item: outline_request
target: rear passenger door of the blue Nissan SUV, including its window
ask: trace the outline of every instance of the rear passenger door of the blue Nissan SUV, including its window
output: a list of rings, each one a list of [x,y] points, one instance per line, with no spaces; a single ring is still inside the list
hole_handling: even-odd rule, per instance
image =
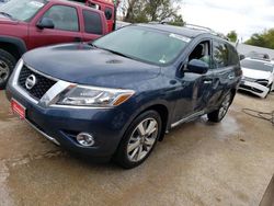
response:
[[[209,100],[212,107],[221,102],[236,83],[236,71],[239,66],[239,57],[235,48],[221,39],[213,41],[213,62],[216,78],[216,88]]]

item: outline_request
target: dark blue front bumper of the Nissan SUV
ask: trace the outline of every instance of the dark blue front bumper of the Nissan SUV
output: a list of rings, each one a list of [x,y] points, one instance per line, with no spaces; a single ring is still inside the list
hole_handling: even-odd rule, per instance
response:
[[[84,156],[111,157],[126,129],[129,115],[118,108],[50,107],[35,104],[20,93],[11,83],[7,98],[14,99],[26,108],[26,122],[47,139]],[[92,147],[82,147],[76,140],[79,133],[94,137]]]

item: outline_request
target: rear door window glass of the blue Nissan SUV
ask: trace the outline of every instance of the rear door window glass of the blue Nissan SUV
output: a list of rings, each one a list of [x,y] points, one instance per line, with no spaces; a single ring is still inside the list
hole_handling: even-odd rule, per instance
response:
[[[222,68],[229,66],[229,50],[225,43],[214,42],[213,44],[213,60],[215,68]]]

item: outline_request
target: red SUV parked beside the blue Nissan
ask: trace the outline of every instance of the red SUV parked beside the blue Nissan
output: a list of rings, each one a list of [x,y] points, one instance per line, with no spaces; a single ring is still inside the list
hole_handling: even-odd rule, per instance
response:
[[[0,8],[0,89],[26,50],[107,33],[102,11],[62,0],[11,0]]]

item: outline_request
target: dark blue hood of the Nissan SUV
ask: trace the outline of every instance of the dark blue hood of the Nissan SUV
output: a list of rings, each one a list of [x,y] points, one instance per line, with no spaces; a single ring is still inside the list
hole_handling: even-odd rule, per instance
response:
[[[66,44],[31,50],[23,56],[31,68],[50,77],[87,85],[125,88],[156,78],[160,67],[93,48]]]

